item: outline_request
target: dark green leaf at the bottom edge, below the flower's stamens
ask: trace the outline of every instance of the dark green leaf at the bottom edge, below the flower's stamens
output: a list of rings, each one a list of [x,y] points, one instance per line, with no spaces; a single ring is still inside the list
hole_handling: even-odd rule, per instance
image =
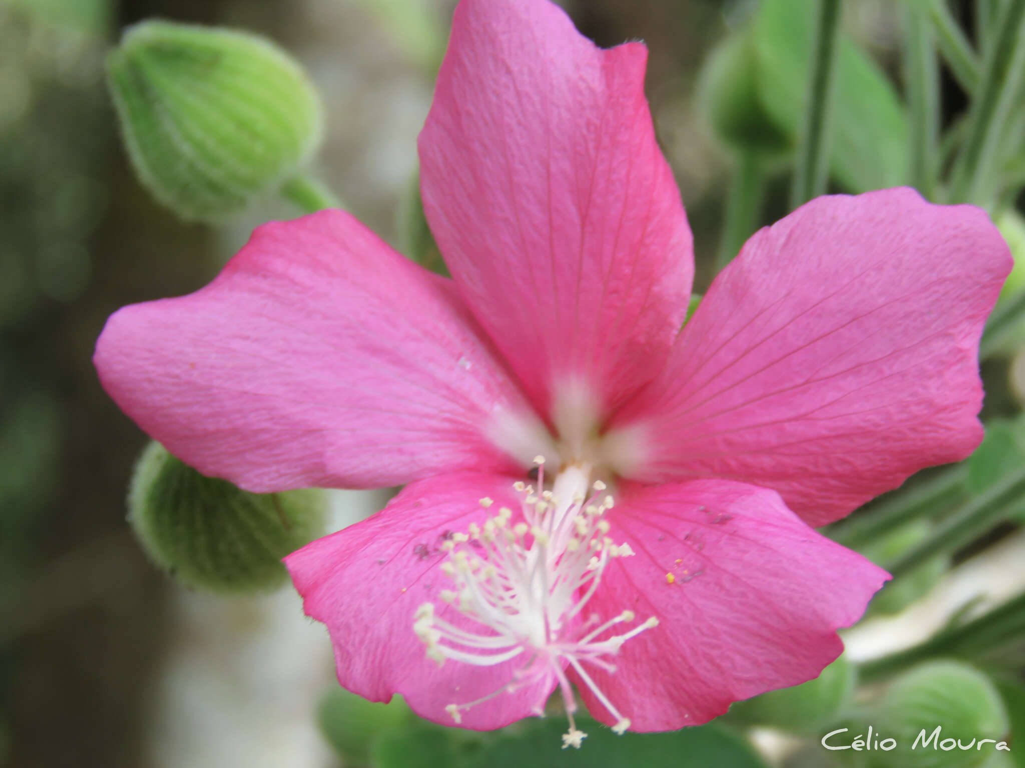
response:
[[[579,750],[560,749],[567,724],[562,718],[552,718],[522,734],[496,739],[460,768],[765,768],[743,737],[717,723],[622,736],[590,719],[580,718],[577,725],[587,733]]]

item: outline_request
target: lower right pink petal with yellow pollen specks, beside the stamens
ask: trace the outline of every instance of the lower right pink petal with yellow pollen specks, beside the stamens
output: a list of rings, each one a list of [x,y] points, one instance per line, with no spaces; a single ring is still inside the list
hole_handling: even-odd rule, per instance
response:
[[[659,625],[623,644],[616,672],[587,672],[633,730],[699,725],[733,701],[816,677],[844,649],[836,629],[889,579],[775,492],[739,482],[630,484],[609,521],[636,554],[612,561],[591,605]],[[614,724],[577,687],[591,715]]]

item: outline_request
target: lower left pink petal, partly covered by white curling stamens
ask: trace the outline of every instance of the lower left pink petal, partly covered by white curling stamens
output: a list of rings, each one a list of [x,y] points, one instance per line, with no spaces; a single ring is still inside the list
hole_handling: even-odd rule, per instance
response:
[[[470,522],[484,522],[488,514],[479,499],[519,508],[511,484],[511,478],[485,474],[421,480],[373,517],[285,558],[306,614],[331,633],[344,688],[371,701],[401,693],[421,717],[453,725],[447,706],[492,693],[523,667],[526,654],[494,667],[451,660],[439,667],[413,633],[413,615],[424,602],[433,602],[442,618],[482,633],[439,599],[440,591],[453,586],[439,567],[446,559],[440,545]],[[461,725],[486,730],[536,714],[555,685],[548,676],[503,692],[463,712]]]

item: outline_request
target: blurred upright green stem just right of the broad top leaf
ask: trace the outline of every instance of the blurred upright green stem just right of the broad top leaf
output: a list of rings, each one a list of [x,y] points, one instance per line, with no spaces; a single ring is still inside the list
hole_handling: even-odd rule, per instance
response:
[[[940,125],[940,75],[932,25],[913,5],[905,6],[904,73],[910,111],[910,178],[921,195],[933,188]]]

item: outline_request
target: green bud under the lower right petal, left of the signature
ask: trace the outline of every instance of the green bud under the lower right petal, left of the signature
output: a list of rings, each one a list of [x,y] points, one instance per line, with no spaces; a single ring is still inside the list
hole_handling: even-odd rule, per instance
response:
[[[843,654],[814,680],[738,701],[730,715],[749,725],[815,733],[847,707],[856,681],[857,670]]]

